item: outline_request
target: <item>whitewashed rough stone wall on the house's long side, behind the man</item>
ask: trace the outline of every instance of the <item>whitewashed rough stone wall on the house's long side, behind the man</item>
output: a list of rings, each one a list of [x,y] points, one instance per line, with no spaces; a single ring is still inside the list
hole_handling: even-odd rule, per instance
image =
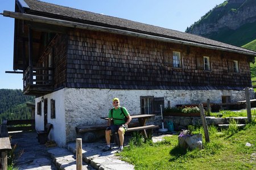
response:
[[[221,95],[229,94],[233,101],[244,100],[243,91],[189,91],[189,90],[111,90],[111,89],[84,89],[65,88],[65,121],[67,142],[76,138],[75,127],[84,125],[106,124],[100,117],[108,116],[112,108],[113,97],[119,97],[120,104],[126,107],[130,114],[141,114],[140,96],[164,97],[164,107],[176,104],[191,104],[206,102],[209,98],[213,103],[221,103]],[[57,114],[57,111],[56,111]],[[57,115],[56,115],[57,117]],[[191,118],[188,118],[191,119]],[[161,125],[161,117],[156,116],[148,121]],[[181,125],[187,124],[187,118],[181,121]]]

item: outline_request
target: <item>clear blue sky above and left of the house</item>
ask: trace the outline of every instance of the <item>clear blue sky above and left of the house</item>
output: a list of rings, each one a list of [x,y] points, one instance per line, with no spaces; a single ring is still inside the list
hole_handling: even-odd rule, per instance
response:
[[[225,0],[42,0],[98,14],[125,18],[141,23],[184,32],[216,5]],[[15,0],[1,0],[3,10],[14,11]],[[22,74],[13,71],[14,19],[0,15],[0,89],[23,89]]]

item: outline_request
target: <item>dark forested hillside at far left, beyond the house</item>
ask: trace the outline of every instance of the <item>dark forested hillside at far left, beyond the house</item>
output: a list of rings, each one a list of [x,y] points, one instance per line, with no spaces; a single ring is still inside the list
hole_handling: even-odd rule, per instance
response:
[[[23,95],[21,90],[0,89],[0,123],[2,120],[30,119],[31,112],[27,102],[34,102],[34,97]]]

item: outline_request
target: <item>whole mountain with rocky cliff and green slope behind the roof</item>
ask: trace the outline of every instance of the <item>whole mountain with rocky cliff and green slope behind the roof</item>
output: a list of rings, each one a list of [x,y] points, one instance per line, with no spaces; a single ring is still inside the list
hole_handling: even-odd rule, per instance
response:
[[[250,43],[256,40],[256,1],[225,1],[185,32],[237,46]]]

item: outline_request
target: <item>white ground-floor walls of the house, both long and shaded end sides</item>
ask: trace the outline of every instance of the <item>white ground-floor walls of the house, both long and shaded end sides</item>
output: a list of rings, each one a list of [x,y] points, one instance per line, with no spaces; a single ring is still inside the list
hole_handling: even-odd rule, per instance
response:
[[[164,107],[168,101],[171,107],[177,104],[221,103],[221,96],[231,96],[232,101],[245,100],[244,91],[229,90],[110,90],[96,88],[64,88],[44,96],[48,99],[48,122],[53,124],[51,140],[59,146],[75,141],[76,126],[106,124],[100,117],[108,116],[112,108],[112,99],[118,97],[120,104],[130,114],[141,113],[141,96],[164,97]],[[41,97],[36,99],[40,101]],[[51,119],[51,99],[55,100],[56,118]],[[37,113],[37,112],[35,112]],[[36,114],[36,130],[43,129],[42,116]]]

